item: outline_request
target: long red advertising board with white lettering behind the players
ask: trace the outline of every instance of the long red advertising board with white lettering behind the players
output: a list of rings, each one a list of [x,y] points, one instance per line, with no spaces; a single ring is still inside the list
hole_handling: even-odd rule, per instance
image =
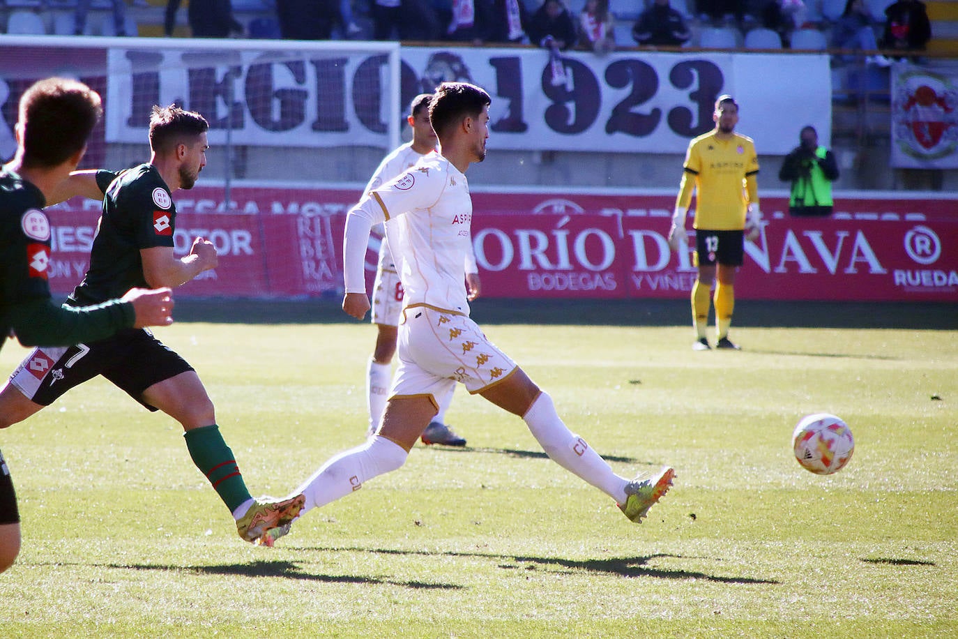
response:
[[[338,296],[342,230],[354,190],[234,187],[176,194],[174,243],[217,246],[219,265],[177,290],[197,297]],[[690,252],[665,241],[674,195],[473,194],[472,238],[488,297],[685,298]],[[763,200],[745,246],[740,299],[958,302],[958,200],[838,197],[827,219],[791,218]],[[68,292],[88,264],[99,204],[50,209],[50,282]],[[691,224],[690,224],[691,227]],[[371,250],[367,267],[375,269]]]

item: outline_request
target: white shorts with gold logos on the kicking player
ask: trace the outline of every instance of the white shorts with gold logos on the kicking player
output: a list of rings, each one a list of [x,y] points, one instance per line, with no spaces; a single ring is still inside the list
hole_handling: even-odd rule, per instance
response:
[[[406,308],[403,314],[391,398],[441,397],[457,381],[469,393],[480,393],[516,368],[466,315],[429,307]]]

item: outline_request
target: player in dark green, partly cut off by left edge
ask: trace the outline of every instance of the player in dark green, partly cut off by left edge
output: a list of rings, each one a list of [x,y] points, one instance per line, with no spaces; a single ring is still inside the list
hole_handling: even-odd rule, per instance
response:
[[[16,154],[0,170],[0,347],[11,332],[24,346],[69,345],[172,323],[169,288],[133,288],[92,307],[60,307],[51,299],[51,227],[42,209],[77,168],[101,104],[96,91],[62,78],[35,82],[20,99]],[[20,513],[0,453],[0,573],[19,551]]]

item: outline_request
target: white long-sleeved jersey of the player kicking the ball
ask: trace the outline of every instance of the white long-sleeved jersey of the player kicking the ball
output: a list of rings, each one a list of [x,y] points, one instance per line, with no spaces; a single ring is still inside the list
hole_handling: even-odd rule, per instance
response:
[[[347,292],[366,291],[365,238],[372,224],[383,221],[405,291],[403,305],[468,315],[466,263],[472,252],[472,199],[466,175],[432,152],[398,178],[364,195],[346,219]]]

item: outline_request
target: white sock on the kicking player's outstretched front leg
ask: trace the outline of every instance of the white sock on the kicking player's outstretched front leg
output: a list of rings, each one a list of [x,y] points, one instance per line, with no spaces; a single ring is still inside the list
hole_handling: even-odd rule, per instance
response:
[[[628,480],[612,472],[612,468],[599,453],[562,423],[552,398],[546,393],[536,398],[522,419],[529,425],[533,437],[552,461],[603,491],[616,502],[625,503]]]

